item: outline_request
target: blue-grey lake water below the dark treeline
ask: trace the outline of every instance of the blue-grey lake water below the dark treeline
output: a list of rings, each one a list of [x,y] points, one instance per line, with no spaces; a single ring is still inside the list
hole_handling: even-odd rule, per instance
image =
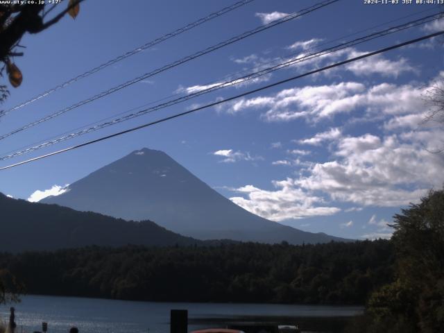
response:
[[[214,321],[239,318],[344,317],[361,314],[362,307],[323,305],[221,304],[183,302],[133,302],[99,298],[23,296],[14,305],[16,333],[42,330],[48,323],[49,333],[67,333],[75,325],[80,333],[158,333],[169,332],[171,309],[187,309],[189,332],[216,326]],[[8,321],[9,306],[1,305],[0,317]],[[213,323],[213,325],[212,325]]]

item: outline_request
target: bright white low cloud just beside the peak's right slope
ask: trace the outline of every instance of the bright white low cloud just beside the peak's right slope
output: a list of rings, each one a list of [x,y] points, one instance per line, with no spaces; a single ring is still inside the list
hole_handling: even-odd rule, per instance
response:
[[[272,221],[302,219],[308,216],[327,216],[341,210],[323,204],[323,199],[313,196],[294,186],[293,180],[273,181],[274,191],[259,189],[253,185],[240,187],[237,191],[244,196],[230,198],[232,202],[253,214]]]

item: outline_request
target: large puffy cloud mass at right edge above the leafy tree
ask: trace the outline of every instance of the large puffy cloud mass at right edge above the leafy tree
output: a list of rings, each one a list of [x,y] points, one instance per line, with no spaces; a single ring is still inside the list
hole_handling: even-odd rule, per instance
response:
[[[397,135],[345,137],[334,155],[336,160],[314,164],[309,176],[296,183],[334,200],[397,207],[416,202],[427,189],[444,182],[444,155],[431,154],[418,141],[405,142]]]

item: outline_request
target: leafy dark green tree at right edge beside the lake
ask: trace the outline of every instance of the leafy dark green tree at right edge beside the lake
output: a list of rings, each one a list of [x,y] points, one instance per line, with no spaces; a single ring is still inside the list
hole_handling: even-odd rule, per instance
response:
[[[394,216],[395,282],[370,297],[368,314],[390,332],[444,330],[444,190]]]

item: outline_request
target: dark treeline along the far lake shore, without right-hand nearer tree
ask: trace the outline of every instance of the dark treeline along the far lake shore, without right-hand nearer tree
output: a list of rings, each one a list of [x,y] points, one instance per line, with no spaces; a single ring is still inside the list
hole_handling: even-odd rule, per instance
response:
[[[364,304],[393,279],[389,241],[0,254],[28,293],[123,300]]]

